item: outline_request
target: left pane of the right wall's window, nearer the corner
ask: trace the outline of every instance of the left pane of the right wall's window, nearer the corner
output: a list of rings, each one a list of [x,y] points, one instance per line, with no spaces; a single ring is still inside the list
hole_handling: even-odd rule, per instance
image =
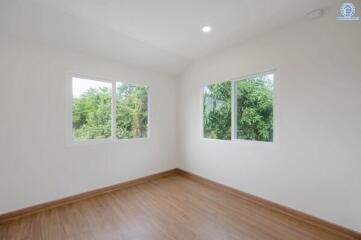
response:
[[[231,82],[208,85],[203,92],[203,136],[231,139]]]

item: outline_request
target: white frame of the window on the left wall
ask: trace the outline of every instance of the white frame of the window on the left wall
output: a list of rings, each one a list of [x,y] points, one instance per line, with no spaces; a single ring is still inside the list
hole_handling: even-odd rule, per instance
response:
[[[103,139],[75,139],[73,135],[73,78],[81,78],[84,80],[93,80],[105,83],[112,84],[112,111],[111,111],[111,136],[109,138]],[[130,81],[120,81],[114,80],[105,77],[96,77],[90,76],[86,74],[78,74],[78,73],[67,73],[66,74],[66,105],[67,105],[67,114],[66,114],[66,129],[67,129],[67,136],[66,142],[67,145],[79,145],[79,144],[103,144],[103,143],[116,143],[116,142],[123,142],[123,141],[144,141],[150,139],[150,87],[145,84],[134,83]],[[116,136],[116,84],[123,83],[123,84],[131,84],[133,86],[145,87],[147,89],[147,115],[148,115],[148,123],[147,123],[147,136],[140,138],[123,138],[119,139]]]

